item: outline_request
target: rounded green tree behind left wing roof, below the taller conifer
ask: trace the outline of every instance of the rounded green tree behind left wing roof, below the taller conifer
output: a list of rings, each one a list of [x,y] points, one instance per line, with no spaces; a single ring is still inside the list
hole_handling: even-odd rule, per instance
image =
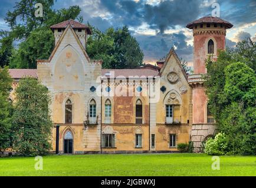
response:
[[[50,29],[36,29],[10,59],[11,68],[35,69],[37,59],[48,59],[54,48],[54,35]]]

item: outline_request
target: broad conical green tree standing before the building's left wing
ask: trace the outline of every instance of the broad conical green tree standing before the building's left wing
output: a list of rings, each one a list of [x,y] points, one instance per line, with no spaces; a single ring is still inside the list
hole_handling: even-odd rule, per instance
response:
[[[51,149],[50,93],[34,78],[19,82],[13,117],[14,149],[24,156],[46,155]]]

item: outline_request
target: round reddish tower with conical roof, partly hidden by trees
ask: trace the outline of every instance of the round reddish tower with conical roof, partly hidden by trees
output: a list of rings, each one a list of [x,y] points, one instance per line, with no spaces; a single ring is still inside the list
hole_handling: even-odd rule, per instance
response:
[[[195,152],[201,151],[201,143],[215,134],[214,119],[209,112],[208,98],[205,95],[202,75],[207,73],[205,60],[209,56],[216,60],[219,49],[225,49],[226,29],[232,24],[221,18],[206,16],[189,23],[186,27],[193,29],[193,75],[188,76],[192,87],[193,125],[191,140],[194,142]]]

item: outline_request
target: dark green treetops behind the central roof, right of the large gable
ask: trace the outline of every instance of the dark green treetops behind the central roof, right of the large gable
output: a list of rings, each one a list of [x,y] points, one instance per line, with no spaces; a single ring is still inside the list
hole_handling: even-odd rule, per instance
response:
[[[104,69],[137,68],[142,65],[143,52],[126,26],[109,28],[106,32],[93,28],[88,38],[87,53],[92,59],[103,59]]]

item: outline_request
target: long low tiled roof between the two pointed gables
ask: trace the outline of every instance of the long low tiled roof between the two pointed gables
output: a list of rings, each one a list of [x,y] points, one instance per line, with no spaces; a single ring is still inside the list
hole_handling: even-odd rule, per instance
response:
[[[149,70],[149,69],[103,69],[101,72],[101,76],[106,78],[117,78],[125,77],[129,78],[129,76],[138,76],[140,78],[149,77],[149,76],[157,76],[158,71],[156,70]]]

